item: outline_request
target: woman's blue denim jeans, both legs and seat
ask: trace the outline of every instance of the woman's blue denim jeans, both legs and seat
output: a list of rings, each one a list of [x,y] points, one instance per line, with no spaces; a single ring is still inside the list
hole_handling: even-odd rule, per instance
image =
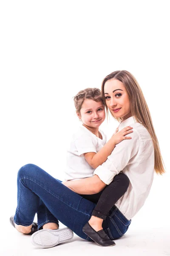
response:
[[[91,218],[95,206],[34,164],[27,164],[18,171],[14,216],[18,225],[31,225],[37,212],[39,229],[48,222],[58,224],[59,220],[82,239],[92,241],[82,232],[82,227]],[[102,227],[113,240],[125,234],[130,222],[113,206]]]

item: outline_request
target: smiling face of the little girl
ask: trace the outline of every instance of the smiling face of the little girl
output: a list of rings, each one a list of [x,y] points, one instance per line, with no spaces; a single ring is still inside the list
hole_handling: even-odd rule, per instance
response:
[[[95,102],[92,99],[85,99],[80,113],[77,113],[83,124],[98,128],[105,120],[105,108],[102,102]]]

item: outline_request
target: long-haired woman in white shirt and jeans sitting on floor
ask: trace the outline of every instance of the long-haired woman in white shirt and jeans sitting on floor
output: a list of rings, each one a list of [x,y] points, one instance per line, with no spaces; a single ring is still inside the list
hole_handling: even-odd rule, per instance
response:
[[[133,126],[132,140],[123,140],[116,145],[106,162],[97,167],[94,177],[67,181],[65,186],[38,166],[29,164],[19,170],[18,205],[14,226],[22,233],[30,233],[37,212],[39,227],[55,229],[34,233],[32,236],[35,244],[50,247],[50,244],[54,246],[64,241],[60,231],[57,233],[56,230],[58,220],[81,238],[92,241],[86,234],[94,232],[93,235],[96,235],[95,230],[91,228],[93,220],[88,223],[95,204],[77,193],[98,193],[122,171],[129,178],[130,185],[102,223],[109,238],[118,239],[125,234],[131,218],[143,206],[150,192],[154,170],[161,175],[164,173],[150,112],[136,79],[125,70],[115,71],[103,80],[102,96],[107,110],[121,122],[119,130],[127,125]],[[69,233],[69,229],[61,230],[61,233]],[[58,240],[54,242],[52,240],[56,234]],[[45,237],[48,243],[42,242],[40,236]],[[71,235],[68,237],[70,239]]]

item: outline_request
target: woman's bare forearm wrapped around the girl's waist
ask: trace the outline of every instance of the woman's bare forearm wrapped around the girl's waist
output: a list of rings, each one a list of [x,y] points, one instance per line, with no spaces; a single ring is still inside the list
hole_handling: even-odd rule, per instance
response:
[[[99,193],[106,186],[106,184],[102,180],[100,180],[97,175],[81,180],[64,181],[62,182],[62,184],[64,184],[77,194],[81,195],[92,195]]]

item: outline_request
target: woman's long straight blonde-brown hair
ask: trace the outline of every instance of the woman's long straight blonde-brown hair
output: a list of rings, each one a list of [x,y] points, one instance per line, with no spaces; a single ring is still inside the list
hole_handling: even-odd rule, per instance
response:
[[[153,128],[150,111],[149,111],[147,103],[144,99],[144,95],[142,93],[141,87],[139,86],[135,77],[130,72],[128,72],[126,70],[114,71],[113,73],[106,76],[102,82],[102,97],[105,102],[107,113],[108,113],[108,107],[107,107],[106,101],[105,101],[104,86],[105,86],[105,82],[110,79],[117,79],[124,84],[124,86],[127,90],[129,99],[130,99],[130,108],[131,108],[132,116],[135,116],[136,121],[141,123],[142,125],[144,125],[144,127],[147,129],[147,131],[150,133],[150,136],[152,137],[154,152],[155,152],[154,168],[155,168],[155,171],[157,174],[162,175],[165,172],[164,162],[161,157],[158,139],[156,137],[156,133]],[[111,115],[113,116],[112,113],[111,113]],[[121,118],[115,118],[115,119],[118,120],[119,122],[122,121]]]

